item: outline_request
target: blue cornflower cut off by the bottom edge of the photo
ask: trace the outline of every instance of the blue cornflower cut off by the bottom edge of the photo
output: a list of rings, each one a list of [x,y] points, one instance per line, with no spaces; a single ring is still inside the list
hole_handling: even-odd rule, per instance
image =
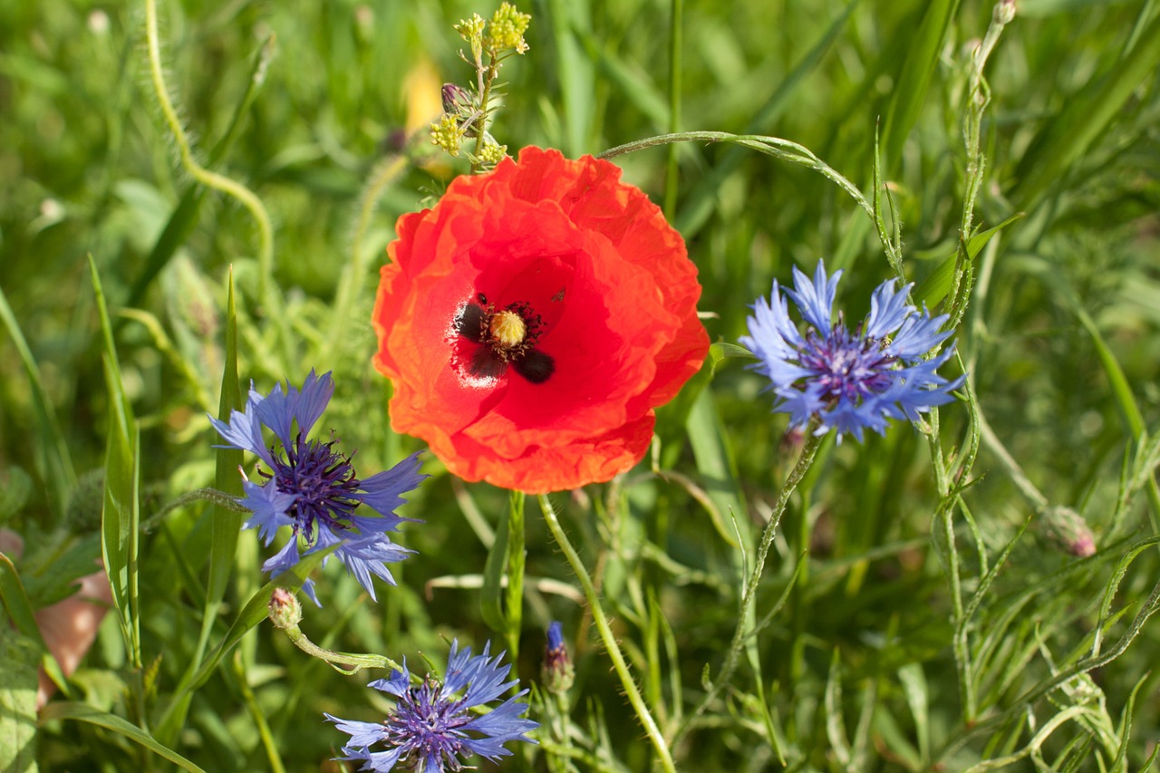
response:
[[[406,660],[403,670],[392,673],[390,679],[370,682],[375,689],[397,699],[394,710],[383,722],[355,722],[324,714],[350,736],[342,746],[347,756],[341,759],[362,760],[365,765],[360,771],[387,773],[398,765],[423,773],[443,773],[462,771],[472,754],[494,763],[512,753],[503,747],[508,741],[536,743],[525,734],[539,723],[521,718],[528,705],[516,702],[527,689],[486,714],[471,710],[519,684],[519,680],[503,681],[512,666],[499,665],[502,652],[488,659],[490,648],[488,642],[483,655],[471,657],[470,646],[459,651],[459,643],[452,642],[442,684],[432,677],[418,685],[411,684]],[[386,750],[371,751],[376,744],[384,744]]]

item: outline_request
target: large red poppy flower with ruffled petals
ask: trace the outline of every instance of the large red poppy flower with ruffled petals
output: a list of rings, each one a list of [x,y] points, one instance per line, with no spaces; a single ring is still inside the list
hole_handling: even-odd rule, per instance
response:
[[[701,367],[697,269],[621,169],[525,147],[399,218],[375,304],[391,426],[467,481],[544,493],[645,455]]]

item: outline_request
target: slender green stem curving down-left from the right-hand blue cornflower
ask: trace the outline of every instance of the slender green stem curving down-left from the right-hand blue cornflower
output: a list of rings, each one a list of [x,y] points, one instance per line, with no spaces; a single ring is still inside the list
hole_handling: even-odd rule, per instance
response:
[[[693,727],[693,722],[705,713],[705,709],[717,700],[720,695],[722,689],[728,684],[730,678],[733,676],[733,671],[737,670],[737,665],[741,659],[741,652],[745,649],[746,640],[753,633],[751,630],[751,621],[754,616],[754,604],[757,599],[757,585],[761,583],[761,575],[766,570],[766,557],[769,556],[769,548],[774,544],[774,535],[777,533],[777,525],[782,520],[782,515],[785,513],[785,508],[789,506],[790,497],[797,489],[797,485],[802,483],[806,472],[810,471],[810,467],[813,464],[813,458],[818,453],[818,448],[821,446],[821,441],[825,439],[825,434],[817,434],[820,420],[814,417],[810,420],[810,424],[805,428],[805,443],[802,446],[802,454],[798,456],[797,464],[790,470],[789,477],[785,478],[785,484],[782,486],[781,492],[777,494],[777,501],[774,504],[774,510],[769,515],[769,521],[766,523],[764,530],[761,533],[761,543],[757,546],[757,555],[753,563],[753,571],[749,572],[749,578],[745,584],[745,591],[741,594],[741,609],[737,620],[737,628],[733,630],[733,641],[730,643],[728,652],[725,656],[725,664],[722,666],[720,673],[717,674],[717,679],[713,680],[712,687],[705,693],[701,703],[697,708],[686,717],[681,727],[677,728],[676,734],[673,736],[673,745],[675,746],[680,743],[681,738],[689,731]],[[803,513],[803,518],[805,514]],[[809,561],[810,556],[807,552],[803,552],[802,561]]]

